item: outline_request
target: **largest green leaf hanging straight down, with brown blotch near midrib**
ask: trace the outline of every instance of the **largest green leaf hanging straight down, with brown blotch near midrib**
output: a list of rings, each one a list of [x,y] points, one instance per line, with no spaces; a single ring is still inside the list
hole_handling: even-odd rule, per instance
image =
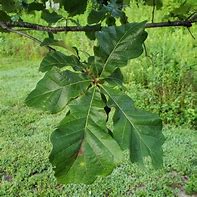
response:
[[[61,183],[92,183],[122,160],[122,151],[108,134],[104,103],[96,87],[69,104],[70,113],[53,132],[50,162]]]

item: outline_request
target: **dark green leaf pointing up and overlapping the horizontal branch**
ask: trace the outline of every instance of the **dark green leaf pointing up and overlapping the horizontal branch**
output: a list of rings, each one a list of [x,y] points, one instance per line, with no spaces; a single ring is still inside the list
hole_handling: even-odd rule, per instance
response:
[[[96,33],[99,49],[95,48],[96,66],[101,76],[106,77],[128,60],[139,57],[143,52],[147,33],[145,23],[130,23],[119,27],[106,27]]]

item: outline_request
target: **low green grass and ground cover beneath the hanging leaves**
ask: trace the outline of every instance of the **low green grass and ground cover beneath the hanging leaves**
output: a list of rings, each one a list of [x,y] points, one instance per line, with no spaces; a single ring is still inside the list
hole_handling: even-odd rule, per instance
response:
[[[50,115],[23,101],[41,74],[38,61],[0,59],[0,196],[170,197],[197,194],[197,133],[164,129],[164,168],[128,161],[92,185],[59,185],[48,162],[49,136],[63,113]],[[126,153],[125,153],[126,154]],[[193,196],[194,196],[193,195]]]

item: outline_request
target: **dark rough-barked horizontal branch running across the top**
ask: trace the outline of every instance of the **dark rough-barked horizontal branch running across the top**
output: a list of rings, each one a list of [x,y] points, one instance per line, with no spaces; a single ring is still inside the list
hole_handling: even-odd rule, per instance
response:
[[[168,21],[168,22],[158,22],[158,23],[146,23],[145,28],[161,28],[161,27],[191,27],[193,23],[196,23],[195,20],[185,20],[185,21]],[[11,21],[0,21],[0,26],[6,30],[7,28],[26,28],[27,30],[36,30],[44,32],[94,32],[101,30],[102,27],[99,25],[91,26],[58,26],[50,27],[39,24],[27,23],[27,22],[11,22]]]

